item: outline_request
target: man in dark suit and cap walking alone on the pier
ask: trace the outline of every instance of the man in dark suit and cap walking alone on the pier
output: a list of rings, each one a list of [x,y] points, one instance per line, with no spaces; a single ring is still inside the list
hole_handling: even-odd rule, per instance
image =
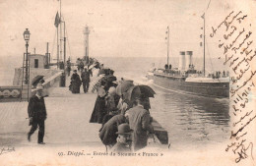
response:
[[[29,141],[31,141],[32,134],[37,129],[37,126],[39,126],[38,139],[37,139],[37,143],[39,144],[44,144],[43,142],[44,121],[46,120],[46,117],[47,117],[45,103],[42,96],[42,90],[43,88],[41,86],[36,88],[36,94],[32,96],[28,106],[30,126],[32,126],[32,129],[28,134],[28,139]]]

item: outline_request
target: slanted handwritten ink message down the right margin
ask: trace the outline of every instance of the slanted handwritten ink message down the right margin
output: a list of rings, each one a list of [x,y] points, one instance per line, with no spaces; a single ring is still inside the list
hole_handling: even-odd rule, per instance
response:
[[[256,47],[253,47],[254,32],[249,21],[244,12],[232,11],[217,27],[212,27],[210,33],[210,37],[218,40],[218,47],[223,52],[219,59],[224,59],[224,65],[229,67],[231,74],[229,114],[233,115],[234,122],[231,124],[230,143],[225,151],[235,155],[236,163],[249,157],[253,159],[253,140],[248,135],[256,119],[256,111],[250,106],[252,90],[256,85],[253,82],[256,71],[252,68],[256,60]]]

